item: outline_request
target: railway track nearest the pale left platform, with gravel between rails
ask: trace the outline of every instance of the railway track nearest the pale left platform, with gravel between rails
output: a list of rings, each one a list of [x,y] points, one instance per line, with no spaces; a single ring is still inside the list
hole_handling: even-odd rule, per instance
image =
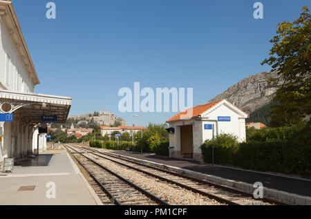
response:
[[[66,146],[68,149],[68,146]],[[74,155],[75,160],[102,189],[112,204],[117,205],[169,205],[164,200],[154,196],[138,185],[126,180],[121,175],[107,169],[99,162],[88,158],[82,153],[76,153],[75,149],[68,149]],[[93,184],[93,186],[95,186]],[[98,189],[97,189],[98,194]],[[100,198],[102,200],[102,198]],[[104,204],[107,204],[103,202]]]

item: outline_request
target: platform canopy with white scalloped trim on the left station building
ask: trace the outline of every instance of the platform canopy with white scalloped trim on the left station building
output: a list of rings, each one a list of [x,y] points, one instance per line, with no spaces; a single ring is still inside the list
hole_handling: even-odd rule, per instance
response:
[[[50,122],[65,123],[71,104],[71,97],[0,91],[0,112],[14,113],[14,118],[28,124],[48,122],[42,121],[44,115],[57,118]]]

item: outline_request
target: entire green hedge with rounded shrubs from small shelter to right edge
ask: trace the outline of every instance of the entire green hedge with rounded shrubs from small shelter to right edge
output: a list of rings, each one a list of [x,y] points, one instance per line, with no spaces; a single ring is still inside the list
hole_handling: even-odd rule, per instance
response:
[[[247,142],[238,143],[232,135],[218,135],[214,140],[214,162],[255,171],[311,175],[311,146],[297,127],[252,131]],[[211,163],[213,142],[201,146],[204,161]]]

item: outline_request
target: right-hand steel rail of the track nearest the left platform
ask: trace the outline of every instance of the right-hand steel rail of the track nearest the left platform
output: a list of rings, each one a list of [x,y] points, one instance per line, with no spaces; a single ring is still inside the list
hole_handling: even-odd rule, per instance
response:
[[[71,148],[71,146],[69,146]],[[73,149],[73,148],[71,148]],[[74,151],[77,151],[75,149],[73,149]],[[78,152],[78,151],[77,151]],[[165,202],[164,200],[158,198],[157,196],[153,195],[152,193],[149,193],[149,191],[146,191],[145,189],[142,189],[141,187],[139,187],[138,185],[134,184],[133,182],[126,180],[125,178],[123,178],[121,175],[111,171],[110,169],[106,168],[106,166],[103,166],[102,164],[96,162],[95,160],[92,160],[91,158],[86,157],[86,155],[84,155],[83,153],[81,153],[82,156],[84,156],[84,158],[87,158],[88,160],[91,160],[93,163],[97,164],[97,166],[100,166],[102,169],[104,169],[105,171],[111,173],[112,175],[115,175],[117,178],[119,178],[120,180],[122,180],[123,182],[126,182],[126,184],[129,184],[131,187],[134,187],[135,189],[137,189],[138,191],[142,192],[145,196],[149,197],[151,200],[157,202],[158,204],[162,204],[162,205],[170,205],[169,203]]]

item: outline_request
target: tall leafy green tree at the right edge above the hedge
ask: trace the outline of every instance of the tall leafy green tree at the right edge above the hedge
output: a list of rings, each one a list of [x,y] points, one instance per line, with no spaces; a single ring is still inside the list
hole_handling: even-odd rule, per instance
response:
[[[270,41],[270,57],[261,63],[278,72],[279,78],[270,78],[268,82],[283,81],[272,100],[271,126],[300,124],[311,114],[311,22],[308,7],[302,11],[292,23],[278,24],[277,35]]]

